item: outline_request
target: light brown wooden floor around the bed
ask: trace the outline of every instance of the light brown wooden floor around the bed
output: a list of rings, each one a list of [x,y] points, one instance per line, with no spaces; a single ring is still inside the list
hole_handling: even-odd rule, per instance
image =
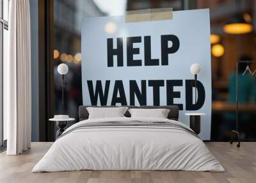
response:
[[[0,182],[256,182],[256,142],[206,143],[225,172],[195,171],[65,171],[31,173],[52,143],[32,143],[31,150],[17,156],[0,154]]]

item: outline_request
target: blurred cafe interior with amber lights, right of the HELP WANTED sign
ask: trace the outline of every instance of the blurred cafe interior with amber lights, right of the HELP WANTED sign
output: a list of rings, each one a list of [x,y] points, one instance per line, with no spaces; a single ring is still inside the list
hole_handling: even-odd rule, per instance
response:
[[[229,140],[236,129],[236,61],[256,60],[256,1],[197,1],[197,8],[209,8],[212,51],[211,139]],[[254,29],[253,29],[254,28]],[[242,138],[256,138],[255,76],[238,67],[239,131]],[[250,69],[255,70],[256,64]]]

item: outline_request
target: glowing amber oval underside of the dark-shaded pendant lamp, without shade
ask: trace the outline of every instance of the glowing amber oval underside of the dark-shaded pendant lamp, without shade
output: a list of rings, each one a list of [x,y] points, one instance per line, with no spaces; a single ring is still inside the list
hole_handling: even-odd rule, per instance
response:
[[[234,24],[227,24],[224,26],[225,33],[240,35],[245,33],[252,32],[253,27],[251,24],[246,23],[234,23]]]

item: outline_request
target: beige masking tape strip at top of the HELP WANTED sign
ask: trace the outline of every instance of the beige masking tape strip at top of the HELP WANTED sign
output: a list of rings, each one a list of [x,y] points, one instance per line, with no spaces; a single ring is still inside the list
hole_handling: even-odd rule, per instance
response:
[[[126,23],[171,19],[173,19],[172,8],[127,11],[125,15]]]

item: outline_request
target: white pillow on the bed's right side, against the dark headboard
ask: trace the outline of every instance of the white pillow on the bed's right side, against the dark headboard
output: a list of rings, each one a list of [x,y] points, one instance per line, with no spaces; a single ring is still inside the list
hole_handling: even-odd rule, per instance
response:
[[[170,109],[128,109],[128,111],[131,113],[131,118],[167,118]]]

